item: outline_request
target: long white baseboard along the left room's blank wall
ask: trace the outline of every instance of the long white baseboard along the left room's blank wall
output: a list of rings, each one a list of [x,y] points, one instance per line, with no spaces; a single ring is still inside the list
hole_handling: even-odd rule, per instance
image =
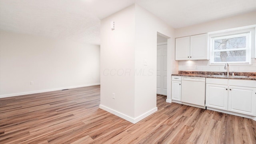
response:
[[[99,85],[100,83],[95,83],[95,84],[84,84],[84,85],[78,85],[78,86],[67,86],[67,87],[62,87],[62,88],[52,88],[52,89],[46,89],[46,90],[36,90],[36,91],[30,91],[30,92],[20,92],[20,93],[15,93],[15,94],[2,94],[0,95],[0,98],[7,98],[11,96],[22,96],[26,94],[37,94],[41,92],[52,92],[56,90],[64,90],[64,89],[70,89],[70,88],[80,88],[80,87],[85,87],[85,86],[95,86]]]

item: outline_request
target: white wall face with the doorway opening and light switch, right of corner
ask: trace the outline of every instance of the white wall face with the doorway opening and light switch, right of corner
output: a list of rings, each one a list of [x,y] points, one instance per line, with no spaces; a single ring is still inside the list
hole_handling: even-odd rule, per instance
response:
[[[135,118],[156,108],[156,62],[157,33],[168,39],[168,88],[171,87],[171,67],[174,57],[174,29],[165,22],[135,4],[135,70],[144,74],[135,74]],[[148,65],[144,66],[144,60]],[[170,94],[168,94],[170,95]]]

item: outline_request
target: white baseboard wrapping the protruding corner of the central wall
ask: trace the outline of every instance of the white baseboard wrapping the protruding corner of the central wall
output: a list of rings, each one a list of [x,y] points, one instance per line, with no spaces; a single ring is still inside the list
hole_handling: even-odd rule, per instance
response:
[[[123,118],[123,119],[127,120],[128,122],[132,122],[133,124],[139,122],[140,120],[146,118],[146,117],[149,116],[150,114],[153,114],[154,112],[157,111],[157,107],[156,107],[156,108],[153,108],[152,110],[149,110],[148,112],[146,112],[146,113],[144,113],[144,114],[138,116],[137,118],[132,118],[132,117],[130,117],[130,116],[127,116],[127,115],[125,115],[125,114],[122,114],[121,112],[118,112],[118,111],[116,111],[116,110],[113,110],[113,109],[111,109],[111,108],[108,108],[108,107],[106,107],[106,106],[103,106],[103,105],[101,105],[101,104],[100,104],[100,108],[101,108],[102,110],[106,110],[107,112],[110,112],[111,114],[114,114],[114,115],[116,115],[116,116],[119,116],[120,118]]]

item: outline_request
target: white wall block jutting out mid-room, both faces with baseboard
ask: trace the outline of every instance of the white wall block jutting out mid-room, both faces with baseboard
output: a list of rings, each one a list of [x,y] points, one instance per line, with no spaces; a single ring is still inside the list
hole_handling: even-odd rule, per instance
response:
[[[115,30],[110,30],[111,21],[115,22]],[[174,29],[137,4],[101,21],[100,108],[133,123],[157,110],[157,32],[169,37],[170,91]],[[145,59],[147,66],[144,66]]]

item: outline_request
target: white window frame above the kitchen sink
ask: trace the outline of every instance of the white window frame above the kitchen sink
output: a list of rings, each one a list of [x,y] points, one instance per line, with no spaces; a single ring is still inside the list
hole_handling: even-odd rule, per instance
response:
[[[214,62],[214,52],[217,51],[232,51],[232,50],[246,50],[246,62],[228,62],[233,65],[251,64],[251,50],[252,50],[252,29],[236,30],[229,32],[221,32],[209,34],[210,60],[209,65],[223,65],[226,62]],[[234,38],[238,36],[246,36],[246,48],[229,49],[229,50],[214,50],[214,40],[223,38]]]

